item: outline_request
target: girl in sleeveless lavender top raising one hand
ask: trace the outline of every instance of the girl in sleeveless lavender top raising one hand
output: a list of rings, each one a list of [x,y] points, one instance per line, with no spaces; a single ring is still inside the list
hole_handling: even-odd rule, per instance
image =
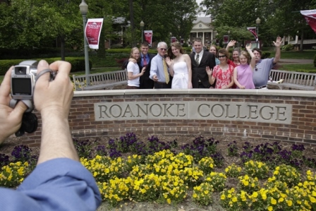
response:
[[[245,47],[247,52],[242,51],[239,56],[241,64],[233,69],[233,81],[237,89],[254,89],[253,69],[255,68],[255,55],[251,51],[251,43]],[[250,60],[250,56],[251,60]]]

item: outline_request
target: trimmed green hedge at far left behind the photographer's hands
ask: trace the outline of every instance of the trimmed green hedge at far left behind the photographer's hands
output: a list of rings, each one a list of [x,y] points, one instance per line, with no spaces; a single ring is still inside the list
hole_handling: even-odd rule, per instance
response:
[[[54,61],[60,60],[60,57],[56,58],[48,58],[44,59],[49,64],[53,63]],[[41,59],[29,59],[29,60],[36,60],[39,61]],[[21,61],[25,61],[25,59],[10,59],[10,60],[0,60],[0,76],[4,76],[8,68],[14,65],[20,64]],[[71,73],[83,71],[85,70],[85,58],[84,57],[66,57],[65,61],[71,63]],[[89,60],[89,67],[92,68],[92,62]]]

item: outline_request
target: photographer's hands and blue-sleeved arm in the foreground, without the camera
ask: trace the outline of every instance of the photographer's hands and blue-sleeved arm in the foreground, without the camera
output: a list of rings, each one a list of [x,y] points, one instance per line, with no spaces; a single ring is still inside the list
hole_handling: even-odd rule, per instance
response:
[[[35,108],[42,116],[42,141],[37,167],[16,190],[0,188],[1,210],[97,210],[101,203],[99,188],[92,174],[79,162],[69,130],[68,114],[73,97],[69,79],[71,64],[56,61],[51,65],[39,61],[34,90]],[[23,102],[12,109],[8,106],[11,70],[0,86],[0,143],[18,131],[24,111]]]

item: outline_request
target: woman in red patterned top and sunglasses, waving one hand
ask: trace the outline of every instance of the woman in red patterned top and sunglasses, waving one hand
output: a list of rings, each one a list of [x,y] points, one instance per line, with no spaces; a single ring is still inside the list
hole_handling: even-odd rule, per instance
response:
[[[219,49],[219,65],[214,66],[214,70],[206,68],[209,76],[209,83],[215,84],[215,89],[229,89],[233,86],[233,66],[227,64],[229,52],[226,49]]]

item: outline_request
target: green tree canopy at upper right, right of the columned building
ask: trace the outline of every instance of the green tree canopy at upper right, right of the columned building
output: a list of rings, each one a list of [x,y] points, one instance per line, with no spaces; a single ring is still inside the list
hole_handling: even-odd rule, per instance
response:
[[[259,39],[265,44],[272,44],[277,36],[308,34],[315,37],[300,10],[315,9],[316,0],[203,0],[201,6],[214,19],[219,35],[227,34],[227,28],[234,32],[236,28],[255,27],[255,20],[260,18]],[[243,40],[243,37],[233,38]]]

